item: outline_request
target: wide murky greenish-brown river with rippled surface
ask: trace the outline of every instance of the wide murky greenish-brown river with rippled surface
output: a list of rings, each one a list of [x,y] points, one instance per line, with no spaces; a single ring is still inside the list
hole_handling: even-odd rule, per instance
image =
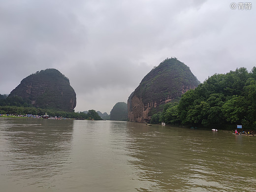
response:
[[[0,118],[1,192],[256,192],[256,136]]]

